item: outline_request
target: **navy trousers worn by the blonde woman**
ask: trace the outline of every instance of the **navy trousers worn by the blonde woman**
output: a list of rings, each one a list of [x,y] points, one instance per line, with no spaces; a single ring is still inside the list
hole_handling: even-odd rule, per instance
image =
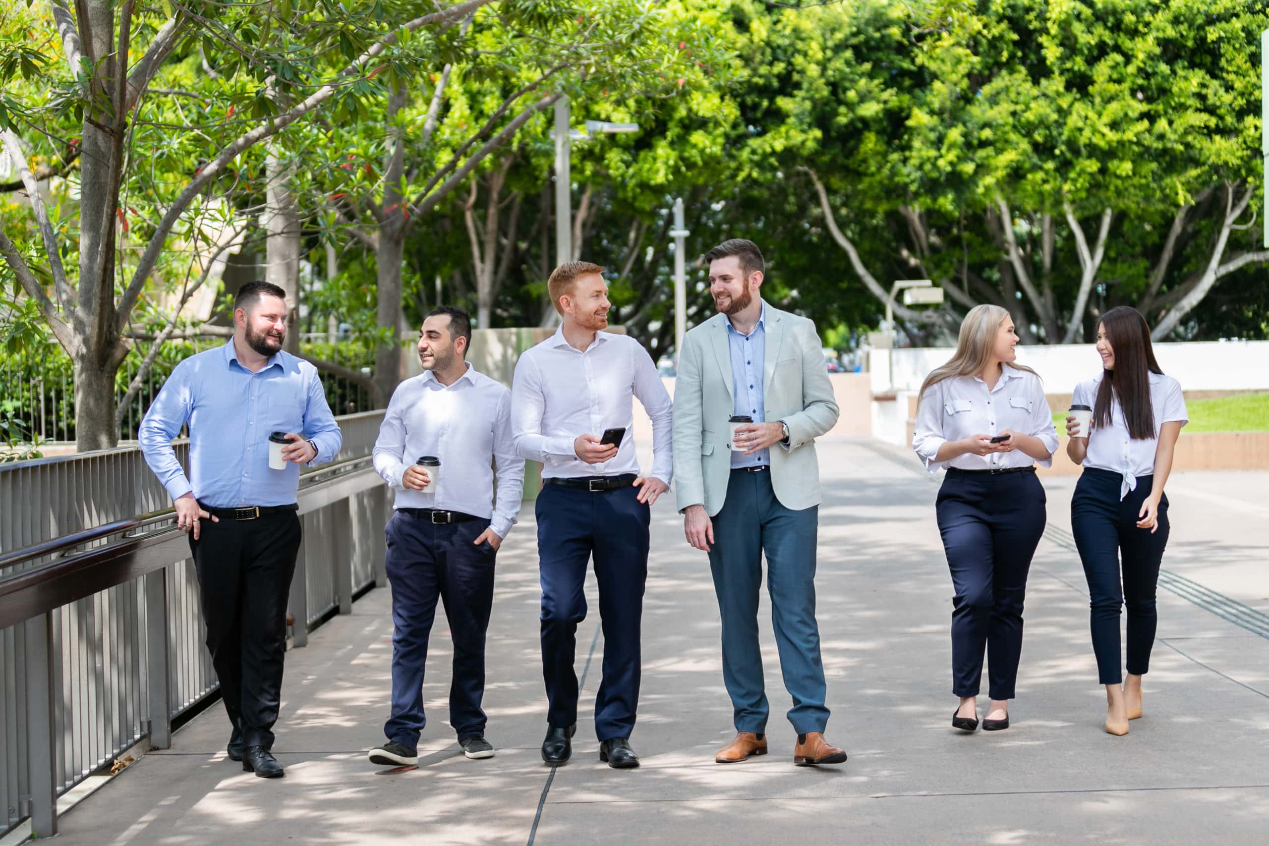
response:
[[[956,595],[952,693],[977,696],[987,652],[989,695],[1013,699],[1023,652],[1023,601],[1044,534],[1044,486],[1036,473],[948,469],[935,506]]]

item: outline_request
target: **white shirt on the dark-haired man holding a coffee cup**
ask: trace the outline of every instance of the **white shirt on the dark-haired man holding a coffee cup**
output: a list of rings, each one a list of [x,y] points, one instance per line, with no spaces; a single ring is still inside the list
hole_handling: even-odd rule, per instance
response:
[[[401,486],[406,467],[423,455],[440,459],[431,493]],[[395,507],[486,517],[505,538],[520,511],[524,487],[524,459],[511,443],[511,392],[471,364],[450,386],[440,384],[430,370],[406,379],[392,392],[383,413],[374,441],[374,469],[396,491]]]

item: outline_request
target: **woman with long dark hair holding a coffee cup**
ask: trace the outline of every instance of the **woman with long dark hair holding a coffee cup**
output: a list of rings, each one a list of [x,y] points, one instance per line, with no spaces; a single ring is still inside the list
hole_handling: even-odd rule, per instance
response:
[[[1164,375],[1150,345],[1150,326],[1121,306],[1098,326],[1101,373],[1081,382],[1072,406],[1093,410],[1089,431],[1066,419],[1066,454],[1084,473],[1071,498],[1071,529],[1089,581],[1093,651],[1107,686],[1105,729],[1128,733],[1142,713],[1141,677],[1155,644],[1155,587],[1167,544],[1164,485],[1173,452],[1189,420],[1181,386]],[[1123,582],[1121,585],[1121,567]],[[1119,609],[1128,606],[1128,675],[1119,663]]]

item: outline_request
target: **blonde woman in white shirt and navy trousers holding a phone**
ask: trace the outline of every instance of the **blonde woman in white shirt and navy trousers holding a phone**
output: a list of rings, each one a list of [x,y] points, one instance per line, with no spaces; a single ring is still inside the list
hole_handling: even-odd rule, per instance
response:
[[[931,473],[947,467],[935,511],[952,585],[952,726],[978,728],[977,696],[987,652],[991,703],[983,731],[1009,728],[1023,647],[1027,571],[1044,533],[1044,488],[1057,431],[1039,377],[1015,364],[1009,312],[976,306],[956,355],[921,386],[912,449]]]

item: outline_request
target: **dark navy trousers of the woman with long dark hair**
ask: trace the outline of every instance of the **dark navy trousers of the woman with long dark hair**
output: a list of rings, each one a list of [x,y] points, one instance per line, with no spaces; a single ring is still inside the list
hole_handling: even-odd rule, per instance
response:
[[[1155,646],[1155,589],[1167,545],[1167,495],[1159,500],[1159,529],[1138,529],[1137,515],[1150,496],[1154,476],[1138,476],[1137,487],[1119,498],[1119,473],[1086,467],[1071,497],[1071,531],[1089,580],[1089,628],[1098,656],[1098,684],[1123,681],[1119,665],[1119,611],[1128,606],[1128,672],[1150,671]],[[1123,585],[1119,572],[1123,571]]]

